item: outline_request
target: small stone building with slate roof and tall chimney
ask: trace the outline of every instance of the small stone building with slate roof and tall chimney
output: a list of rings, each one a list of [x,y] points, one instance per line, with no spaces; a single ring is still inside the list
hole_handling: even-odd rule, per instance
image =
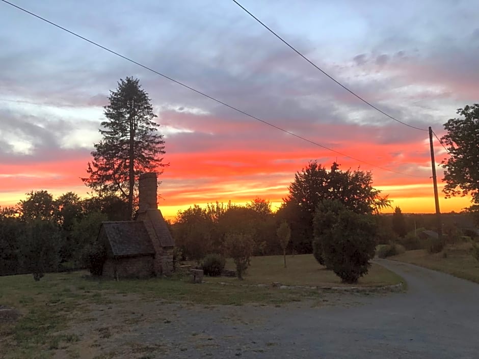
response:
[[[107,248],[103,276],[119,279],[171,274],[175,242],[158,209],[156,190],[156,173],[140,175],[135,220],[101,224],[98,239]]]

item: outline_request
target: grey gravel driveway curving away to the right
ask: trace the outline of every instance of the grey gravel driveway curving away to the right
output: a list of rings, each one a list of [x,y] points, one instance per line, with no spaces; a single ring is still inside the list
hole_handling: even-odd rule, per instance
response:
[[[145,303],[123,317],[127,330],[112,326],[120,312],[100,309],[98,324],[111,330],[101,351],[173,359],[479,358],[479,285],[411,264],[378,262],[406,279],[407,293],[328,294],[326,306],[315,308],[304,302],[281,308]]]

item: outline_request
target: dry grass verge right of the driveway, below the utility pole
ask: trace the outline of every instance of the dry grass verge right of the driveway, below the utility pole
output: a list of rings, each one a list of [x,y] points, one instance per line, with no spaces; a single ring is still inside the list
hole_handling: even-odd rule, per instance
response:
[[[407,251],[388,259],[439,270],[479,283],[479,262],[471,256],[470,248],[470,243],[461,243],[447,246],[441,253],[429,254],[425,250]]]

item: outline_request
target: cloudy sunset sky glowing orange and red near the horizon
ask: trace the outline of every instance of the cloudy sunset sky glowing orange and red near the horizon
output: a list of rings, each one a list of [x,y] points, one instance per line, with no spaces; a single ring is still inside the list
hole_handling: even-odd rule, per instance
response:
[[[403,212],[435,211],[428,132],[349,94],[232,1],[11,2],[367,163],[234,112],[0,2],[0,206],[40,189],[87,197],[80,178],[101,138],[103,106],[120,78],[135,76],[165,135],[169,166],[159,178],[158,205],[166,217],[193,204],[256,197],[276,209],[310,160],[371,171],[374,186]],[[343,85],[439,137],[458,108],[479,100],[475,0],[241,4]],[[437,140],[434,146],[441,191],[447,154]],[[469,201],[440,193],[443,212]]]

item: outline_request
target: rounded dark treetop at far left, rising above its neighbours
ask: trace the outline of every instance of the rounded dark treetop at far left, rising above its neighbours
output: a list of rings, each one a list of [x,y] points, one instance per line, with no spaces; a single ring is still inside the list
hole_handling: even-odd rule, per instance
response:
[[[23,220],[52,220],[55,215],[53,196],[46,190],[30,191],[26,200],[18,203],[18,211]]]

